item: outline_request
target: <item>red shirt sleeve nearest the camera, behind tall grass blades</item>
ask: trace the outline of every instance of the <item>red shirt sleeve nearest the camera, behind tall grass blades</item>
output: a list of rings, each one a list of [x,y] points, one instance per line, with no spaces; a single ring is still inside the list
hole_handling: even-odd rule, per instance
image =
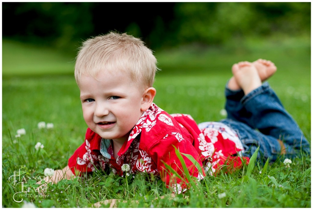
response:
[[[157,141],[151,148],[151,158],[156,162],[157,169],[160,173],[161,179],[166,183],[167,187],[172,187],[174,191],[180,193],[187,189],[187,177],[184,174],[182,163],[175,153],[175,147],[180,153],[191,155],[202,167],[202,162],[198,155],[198,152],[192,146],[189,140],[183,139],[181,133],[171,132],[164,136],[163,139]],[[199,173],[197,167],[186,156],[181,155],[183,158],[183,164],[188,169],[191,177],[197,177],[202,179],[203,176]],[[182,177],[178,178],[169,169],[170,166],[177,174]],[[204,175],[203,167],[202,174]]]

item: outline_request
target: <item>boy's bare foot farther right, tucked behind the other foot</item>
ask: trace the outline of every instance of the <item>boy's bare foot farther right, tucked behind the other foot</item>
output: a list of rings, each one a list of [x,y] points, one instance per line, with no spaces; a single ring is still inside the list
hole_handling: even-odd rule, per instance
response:
[[[274,63],[269,60],[258,59],[252,63],[258,70],[262,82],[271,77],[277,70]]]

